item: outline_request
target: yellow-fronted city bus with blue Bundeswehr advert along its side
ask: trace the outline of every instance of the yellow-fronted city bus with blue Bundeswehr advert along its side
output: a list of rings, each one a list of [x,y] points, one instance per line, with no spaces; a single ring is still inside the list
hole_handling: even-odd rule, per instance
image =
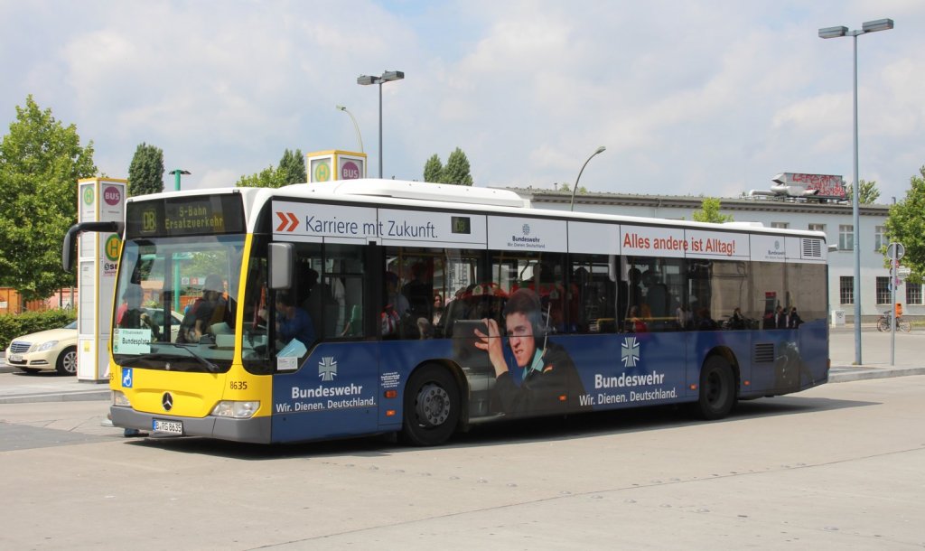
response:
[[[377,179],[129,198],[124,224],[76,225],[65,251],[81,231],[123,238],[119,427],[434,446],[480,423],[621,408],[720,419],[828,380],[820,232]],[[166,326],[127,313],[139,300]]]

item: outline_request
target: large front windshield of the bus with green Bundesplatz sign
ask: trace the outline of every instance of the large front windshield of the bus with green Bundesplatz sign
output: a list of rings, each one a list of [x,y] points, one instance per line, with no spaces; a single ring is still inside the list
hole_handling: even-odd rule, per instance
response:
[[[240,234],[126,241],[113,312],[117,363],[227,372],[243,249]]]

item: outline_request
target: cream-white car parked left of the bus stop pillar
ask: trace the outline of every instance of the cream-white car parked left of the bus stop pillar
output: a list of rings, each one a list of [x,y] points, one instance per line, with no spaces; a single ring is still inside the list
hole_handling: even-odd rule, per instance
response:
[[[77,322],[14,338],[6,349],[6,363],[27,373],[77,374]]]

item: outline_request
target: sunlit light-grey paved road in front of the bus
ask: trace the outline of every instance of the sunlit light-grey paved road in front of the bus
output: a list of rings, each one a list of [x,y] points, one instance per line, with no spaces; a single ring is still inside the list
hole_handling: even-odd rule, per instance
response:
[[[721,422],[633,410],[423,449],[122,439],[93,426],[102,402],[4,404],[0,426],[84,439],[0,451],[0,548],[921,548],[923,394],[865,380]]]

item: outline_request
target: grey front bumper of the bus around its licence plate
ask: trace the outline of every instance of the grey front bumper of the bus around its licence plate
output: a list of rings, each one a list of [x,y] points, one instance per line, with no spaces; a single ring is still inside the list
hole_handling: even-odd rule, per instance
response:
[[[229,419],[212,415],[203,418],[178,417],[144,413],[121,406],[110,406],[109,411],[112,414],[113,424],[118,427],[154,431],[154,420],[180,422],[183,436],[204,436],[255,444],[269,444],[270,442],[271,418],[269,416],[252,417],[251,419]],[[179,435],[177,433],[160,434]]]

